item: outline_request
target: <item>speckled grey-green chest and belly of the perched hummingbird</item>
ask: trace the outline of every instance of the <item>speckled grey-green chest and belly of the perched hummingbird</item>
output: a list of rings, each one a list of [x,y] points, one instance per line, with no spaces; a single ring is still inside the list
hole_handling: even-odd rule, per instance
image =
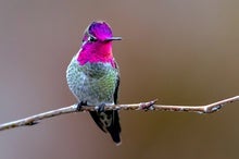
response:
[[[86,63],[79,65],[76,56],[71,61],[66,80],[77,100],[88,105],[114,103],[118,71],[110,63]]]

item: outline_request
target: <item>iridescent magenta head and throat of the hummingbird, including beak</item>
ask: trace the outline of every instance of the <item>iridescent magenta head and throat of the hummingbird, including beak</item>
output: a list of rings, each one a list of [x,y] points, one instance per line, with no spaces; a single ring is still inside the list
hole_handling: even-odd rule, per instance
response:
[[[112,41],[121,39],[121,37],[113,36],[110,25],[105,22],[92,22],[84,33],[83,45],[77,60],[80,64],[87,62],[112,63]]]

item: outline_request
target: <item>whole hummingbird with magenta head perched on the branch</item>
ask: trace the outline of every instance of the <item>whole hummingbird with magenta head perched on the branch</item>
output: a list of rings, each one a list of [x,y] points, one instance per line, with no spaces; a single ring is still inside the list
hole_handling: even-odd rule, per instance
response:
[[[110,133],[116,145],[121,144],[118,111],[104,111],[104,106],[117,102],[120,71],[112,53],[112,41],[121,39],[113,36],[108,23],[92,22],[86,28],[81,47],[66,70],[66,81],[78,106],[99,108],[89,113],[100,130]]]

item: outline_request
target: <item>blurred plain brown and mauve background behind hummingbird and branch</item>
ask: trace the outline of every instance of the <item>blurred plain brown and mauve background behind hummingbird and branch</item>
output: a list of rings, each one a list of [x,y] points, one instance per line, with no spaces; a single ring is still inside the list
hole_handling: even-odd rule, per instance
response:
[[[111,24],[120,103],[239,95],[239,1],[0,0],[0,123],[70,106],[65,70],[95,20]],[[88,113],[0,132],[1,158],[235,158],[239,102],[212,114],[121,111],[116,147]]]

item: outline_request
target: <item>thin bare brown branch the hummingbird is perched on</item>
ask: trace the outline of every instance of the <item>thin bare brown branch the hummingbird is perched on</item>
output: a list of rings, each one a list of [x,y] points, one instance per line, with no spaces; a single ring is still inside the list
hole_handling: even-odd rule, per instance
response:
[[[239,101],[239,96],[227,98],[217,102],[209,103],[205,106],[168,106],[168,105],[155,105],[156,100],[130,103],[130,105],[113,105],[105,106],[104,110],[159,110],[159,111],[187,111],[187,112],[198,112],[198,113],[212,113],[219,110],[226,103]],[[60,108],[56,110],[47,111],[43,113],[35,114],[28,118],[16,120],[13,122],[3,123],[0,125],[0,131],[14,129],[18,126],[34,125],[40,120],[52,118],[55,115],[80,112],[80,111],[96,111],[98,108],[96,106],[81,106],[78,107],[77,103]]]

